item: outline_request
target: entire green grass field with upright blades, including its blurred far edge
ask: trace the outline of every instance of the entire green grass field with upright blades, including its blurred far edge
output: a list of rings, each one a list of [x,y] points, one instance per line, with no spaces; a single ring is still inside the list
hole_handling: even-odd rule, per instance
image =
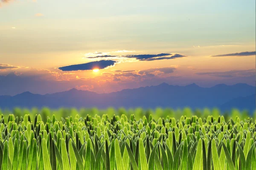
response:
[[[188,108],[5,110],[0,168],[256,170],[255,115]]]

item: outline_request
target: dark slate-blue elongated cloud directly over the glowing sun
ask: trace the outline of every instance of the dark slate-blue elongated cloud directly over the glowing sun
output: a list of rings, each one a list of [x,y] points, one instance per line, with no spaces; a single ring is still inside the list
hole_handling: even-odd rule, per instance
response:
[[[113,60],[100,60],[100,61],[93,61],[89,63],[83,64],[75,64],[70,66],[62,66],[58,67],[61,71],[76,71],[76,70],[92,70],[92,69],[105,69],[109,66],[114,66],[117,61]]]

